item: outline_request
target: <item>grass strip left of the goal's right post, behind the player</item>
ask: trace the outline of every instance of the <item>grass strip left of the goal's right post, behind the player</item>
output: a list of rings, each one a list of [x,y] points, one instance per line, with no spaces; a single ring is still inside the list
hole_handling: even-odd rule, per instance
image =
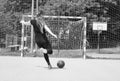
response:
[[[6,51],[6,49],[2,49],[0,51],[0,56],[20,56],[21,52],[20,51]],[[43,57],[43,54],[38,51],[36,53],[29,53],[27,52],[25,57]],[[82,53],[80,50],[60,50],[58,53],[58,50],[53,50],[53,54],[50,55],[50,57],[64,57],[64,58],[81,58]]]

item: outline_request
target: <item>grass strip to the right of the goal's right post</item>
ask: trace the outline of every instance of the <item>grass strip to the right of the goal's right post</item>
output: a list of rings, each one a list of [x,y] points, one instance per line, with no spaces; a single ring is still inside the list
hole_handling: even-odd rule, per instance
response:
[[[90,59],[120,60],[120,47],[102,48],[99,51],[98,49],[88,49],[86,55]]]

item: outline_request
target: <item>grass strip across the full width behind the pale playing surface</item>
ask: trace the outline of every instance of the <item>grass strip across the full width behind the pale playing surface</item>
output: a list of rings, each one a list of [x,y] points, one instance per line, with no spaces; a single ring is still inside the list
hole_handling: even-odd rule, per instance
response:
[[[53,54],[50,57],[56,58],[83,58],[83,53],[81,50],[53,50]],[[20,51],[11,52],[7,49],[1,49],[0,56],[21,56]],[[36,53],[26,53],[24,57],[43,57],[41,52]],[[87,59],[115,59],[120,60],[120,47],[117,48],[103,48],[98,52],[97,49],[87,49],[86,51]]]

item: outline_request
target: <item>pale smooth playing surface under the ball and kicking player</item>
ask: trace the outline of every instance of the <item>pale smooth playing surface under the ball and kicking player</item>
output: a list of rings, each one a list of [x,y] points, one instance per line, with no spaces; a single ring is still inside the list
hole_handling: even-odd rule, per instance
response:
[[[120,81],[120,60],[0,56],[0,81]],[[56,66],[58,60],[65,67]]]

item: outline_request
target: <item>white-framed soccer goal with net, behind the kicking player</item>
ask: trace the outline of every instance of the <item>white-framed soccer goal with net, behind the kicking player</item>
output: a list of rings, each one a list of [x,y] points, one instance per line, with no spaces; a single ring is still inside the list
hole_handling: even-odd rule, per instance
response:
[[[31,15],[24,15],[25,20],[29,20]],[[86,18],[85,17],[72,17],[72,16],[42,16],[47,26],[54,32],[58,39],[47,34],[54,53],[63,56],[81,57],[85,58],[86,51]],[[34,40],[31,39],[31,27],[22,27],[22,40],[21,47],[24,48],[24,43],[28,45],[30,50],[34,48]],[[30,29],[29,29],[30,28]],[[27,30],[26,30],[27,29]],[[25,31],[26,30],[26,31]],[[29,35],[25,35],[29,32]],[[27,33],[28,34],[28,33]],[[34,35],[33,35],[34,36]],[[29,42],[28,44],[28,39]],[[33,37],[34,38],[34,37]],[[25,41],[25,42],[23,42]],[[33,42],[33,44],[31,44]],[[31,44],[31,45],[30,45]],[[22,52],[21,52],[22,54]]]

